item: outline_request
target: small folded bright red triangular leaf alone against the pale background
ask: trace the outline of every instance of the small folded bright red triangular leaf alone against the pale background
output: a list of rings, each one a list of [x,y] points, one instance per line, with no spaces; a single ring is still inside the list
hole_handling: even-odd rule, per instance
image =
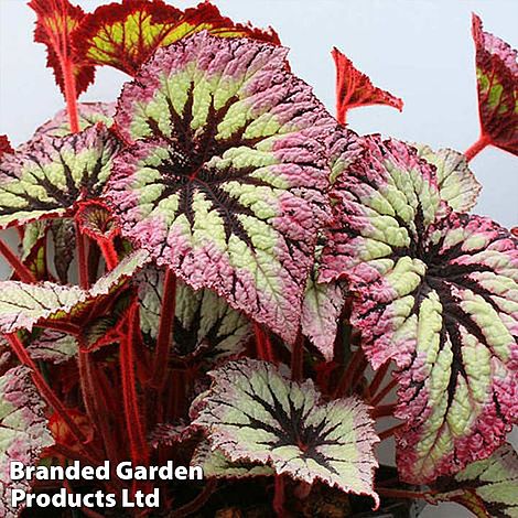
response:
[[[370,79],[353,65],[353,62],[338,48],[333,48],[336,66],[336,118],[345,123],[347,110],[358,106],[387,105],[403,109],[403,101],[370,83]]]

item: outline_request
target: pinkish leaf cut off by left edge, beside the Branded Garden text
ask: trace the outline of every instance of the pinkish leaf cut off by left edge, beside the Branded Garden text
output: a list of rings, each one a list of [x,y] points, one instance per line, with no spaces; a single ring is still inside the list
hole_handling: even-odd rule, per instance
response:
[[[12,489],[30,490],[28,481],[12,481],[10,462],[34,465],[43,449],[54,440],[47,428],[45,404],[24,366],[10,369],[0,377],[0,516],[15,518],[11,507]]]

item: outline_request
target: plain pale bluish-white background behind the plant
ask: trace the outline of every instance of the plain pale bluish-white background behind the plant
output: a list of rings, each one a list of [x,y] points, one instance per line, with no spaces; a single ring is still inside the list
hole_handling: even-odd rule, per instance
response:
[[[169,0],[171,1],[171,0]],[[85,10],[101,2],[76,1]],[[195,0],[177,0],[177,7]],[[517,0],[215,0],[222,12],[257,26],[272,25],[291,48],[293,72],[313,85],[334,112],[337,46],[374,84],[401,97],[402,114],[358,108],[348,122],[360,133],[381,132],[433,148],[460,151],[478,137],[471,12],[484,28],[518,46]],[[22,0],[0,0],[0,134],[19,144],[63,107],[45,68],[43,45],[32,42],[34,15]],[[82,100],[114,100],[127,77],[102,68]],[[518,225],[518,159],[489,148],[472,161],[483,192],[474,212]],[[4,271],[4,270],[3,270]],[[452,504],[428,507],[422,517],[472,516]]]

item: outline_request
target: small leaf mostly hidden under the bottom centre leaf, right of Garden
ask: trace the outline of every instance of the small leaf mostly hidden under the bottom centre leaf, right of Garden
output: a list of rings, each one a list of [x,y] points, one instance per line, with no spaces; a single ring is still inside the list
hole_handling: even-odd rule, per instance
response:
[[[212,450],[207,441],[196,447],[191,465],[201,466],[207,478],[250,478],[276,474],[270,466],[252,464],[247,461],[231,462],[220,450]]]

